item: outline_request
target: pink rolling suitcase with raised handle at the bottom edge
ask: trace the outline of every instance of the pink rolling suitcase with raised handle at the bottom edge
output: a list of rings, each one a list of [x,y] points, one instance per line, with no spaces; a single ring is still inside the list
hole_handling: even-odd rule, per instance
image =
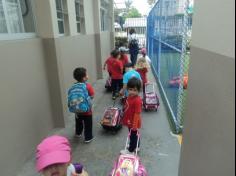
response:
[[[128,148],[130,133],[127,137],[125,150]],[[109,176],[148,176],[145,167],[142,165],[138,157],[138,143],[140,134],[138,133],[138,141],[135,154],[121,154],[115,162]]]

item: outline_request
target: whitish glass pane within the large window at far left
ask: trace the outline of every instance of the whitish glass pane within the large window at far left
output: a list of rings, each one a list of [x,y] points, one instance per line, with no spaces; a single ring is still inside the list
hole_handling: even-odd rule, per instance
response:
[[[24,32],[20,4],[17,0],[6,0],[6,9],[11,33]]]

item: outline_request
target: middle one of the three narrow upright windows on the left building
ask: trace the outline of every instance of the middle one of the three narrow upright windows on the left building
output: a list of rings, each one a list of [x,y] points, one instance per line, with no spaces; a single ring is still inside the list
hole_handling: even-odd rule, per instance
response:
[[[76,26],[78,33],[85,33],[84,5],[82,0],[75,0]]]

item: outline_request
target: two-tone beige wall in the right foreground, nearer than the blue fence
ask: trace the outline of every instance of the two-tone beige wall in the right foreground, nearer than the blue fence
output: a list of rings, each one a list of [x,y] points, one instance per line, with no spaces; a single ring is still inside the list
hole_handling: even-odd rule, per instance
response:
[[[234,7],[195,2],[180,176],[235,175]]]

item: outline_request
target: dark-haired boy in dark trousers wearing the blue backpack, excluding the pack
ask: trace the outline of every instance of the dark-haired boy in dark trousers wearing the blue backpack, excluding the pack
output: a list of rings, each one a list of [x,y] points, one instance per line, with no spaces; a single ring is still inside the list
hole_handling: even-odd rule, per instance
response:
[[[88,75],[85,68],[79,67],[74,70],[74,79],[77,83],[85,84],[90,98],[94,97],[93,87],[87,83]],[[77,112],[75,115],[75,136],[81,137],[84,129],[84,142],[89,143],[93,140],[93,120],[92,107],[87,112]]]

